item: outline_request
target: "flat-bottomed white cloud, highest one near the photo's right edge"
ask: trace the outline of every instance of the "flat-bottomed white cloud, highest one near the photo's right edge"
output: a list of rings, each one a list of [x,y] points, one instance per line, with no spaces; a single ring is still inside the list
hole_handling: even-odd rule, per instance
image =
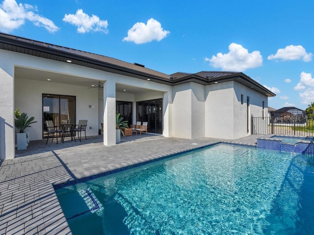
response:
[[[267,57],[268,60],[282,59],[285,60],[303,60],[309,62],[312,60],[312,53],[307,53],[305,48],[302,46],[287,46],[277,50],[275,55],[271,54]]]

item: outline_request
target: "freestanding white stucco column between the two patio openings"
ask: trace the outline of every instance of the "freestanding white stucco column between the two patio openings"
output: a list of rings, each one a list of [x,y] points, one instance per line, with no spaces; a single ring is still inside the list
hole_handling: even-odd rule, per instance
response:
[[[116,144],[116,84],[104,82],[104,145]]]

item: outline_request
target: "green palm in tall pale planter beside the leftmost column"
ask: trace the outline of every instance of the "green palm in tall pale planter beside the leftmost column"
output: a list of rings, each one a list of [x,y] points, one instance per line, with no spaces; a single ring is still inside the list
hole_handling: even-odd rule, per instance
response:
[[[20,114],[19,109],[14,111],[14,116],[15,116],[15,120],[14,120],[15,128],[18,130],[18,133],[16,134],[17,149],[18,150],[26,149],[27,138],[29,138],[29,136],[25,132],[25,129],[27,127],[30,127],[30,124],[35,123],[37,121],[34,121],[35,119],[34,117],[28,118],[26,113]]]

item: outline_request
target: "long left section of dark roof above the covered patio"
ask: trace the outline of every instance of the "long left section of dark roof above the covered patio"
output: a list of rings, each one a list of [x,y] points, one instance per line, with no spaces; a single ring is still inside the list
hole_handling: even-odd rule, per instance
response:
[[[38,56],[46,59],[66,62],[89,67],[97,70],[128,75],[137,78],[157,78],[169,83],[168,74],[144,68],[142,65],[128,63],[111,57],[76,50],[68,47],[56,46],[10,34],[0,33],[0,49]]]

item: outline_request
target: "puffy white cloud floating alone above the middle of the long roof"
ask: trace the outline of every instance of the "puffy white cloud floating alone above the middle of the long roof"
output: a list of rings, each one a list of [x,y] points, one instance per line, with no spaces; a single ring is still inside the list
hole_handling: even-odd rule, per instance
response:
[[[147,24],[142,22],[135,23],[128,30],[128,37],[125,37],[122,41],[133,42],[135,44],[149,43],[153,40],[159,42],[169,33],[170,31],[164,30],[157,20],[151,18],[147,21]]]

